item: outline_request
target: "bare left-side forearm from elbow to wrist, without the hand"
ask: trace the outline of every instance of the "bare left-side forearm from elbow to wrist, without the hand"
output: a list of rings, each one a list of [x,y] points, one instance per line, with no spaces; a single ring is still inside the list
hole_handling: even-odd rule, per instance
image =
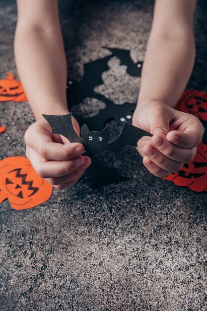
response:
[[[67,64],[61,30],[18,25],[14,41],[20,79],[36,119],[68,111]]]

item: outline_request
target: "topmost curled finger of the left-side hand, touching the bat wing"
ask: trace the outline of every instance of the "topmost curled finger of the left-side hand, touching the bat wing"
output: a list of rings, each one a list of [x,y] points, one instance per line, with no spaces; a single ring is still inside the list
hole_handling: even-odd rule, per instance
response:
[[[26,132],[25,143],[48,160],[68,160],[85,152],[84,146],[80,143],[65,145],[54,143],[46,130],[37,130],[35,133],[34,131]]]

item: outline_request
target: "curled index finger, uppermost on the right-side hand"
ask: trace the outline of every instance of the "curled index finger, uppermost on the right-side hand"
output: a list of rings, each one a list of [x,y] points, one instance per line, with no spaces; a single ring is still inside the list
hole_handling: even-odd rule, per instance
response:
[[[193,123],[183,131],[171,131],[167,134],[167,140],[182,148],[197,147],[204,135],[204,127],[201,122]]]

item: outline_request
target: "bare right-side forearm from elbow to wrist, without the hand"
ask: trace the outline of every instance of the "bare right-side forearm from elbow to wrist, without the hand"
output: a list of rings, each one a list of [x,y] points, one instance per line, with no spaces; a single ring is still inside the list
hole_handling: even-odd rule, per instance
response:
[[[141,75],[138,108],[149,102],[174,107],[190,78],[195,59],[194,35],[153,36]]]

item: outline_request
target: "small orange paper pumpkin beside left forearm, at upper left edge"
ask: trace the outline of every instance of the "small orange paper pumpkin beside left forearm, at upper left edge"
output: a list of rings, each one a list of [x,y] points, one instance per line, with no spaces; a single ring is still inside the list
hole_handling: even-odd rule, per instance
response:
[[[6,74],[8,77],[0,80],[0,101],[27,101],[21,82],[11,73]]]

